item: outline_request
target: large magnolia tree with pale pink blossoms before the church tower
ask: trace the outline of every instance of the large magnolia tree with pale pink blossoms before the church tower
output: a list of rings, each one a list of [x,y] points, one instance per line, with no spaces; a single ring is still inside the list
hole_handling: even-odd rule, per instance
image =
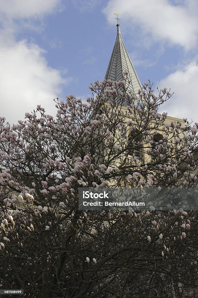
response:
[[[196,211],[78,208],[79,187],[197,188],[198,124],[167,124],[159,113],[167,89],[156,96],[148,82],[134,95],[127,86],[127,76],[95,81],[87,103],[57,99],[56,119],[40,106],[12,127],[1,118],[2,289],[47,298],[196,297]]]

